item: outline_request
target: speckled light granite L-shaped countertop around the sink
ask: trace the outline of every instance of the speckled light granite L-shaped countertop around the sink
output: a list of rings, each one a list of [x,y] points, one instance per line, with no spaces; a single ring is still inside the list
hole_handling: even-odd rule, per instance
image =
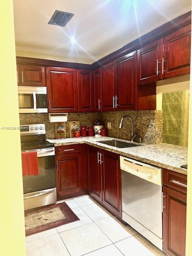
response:
[[[131,148],[116,148],[100,143],[102,140],[114,140],[111,137],[83,137],[83,138],[66,138],[57,140],[48,140],[55,146],[64,146],[70,144],[86,143],[111,152],[127,156],[158,167],[166,168],[175,172],[187,174],[187,170],[180,166],[187,164],[188,150],[186,147],[172,144],[142,144],[142,146]],[[120,140],[120,139],[118,139]],[[127,140],[120,140],[129,142]]]

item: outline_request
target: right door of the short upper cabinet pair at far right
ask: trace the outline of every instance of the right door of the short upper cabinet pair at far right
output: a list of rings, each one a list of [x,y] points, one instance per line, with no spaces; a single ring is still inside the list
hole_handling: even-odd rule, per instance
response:
[[[191,25],[163,38],[164,78],[190,73]]]

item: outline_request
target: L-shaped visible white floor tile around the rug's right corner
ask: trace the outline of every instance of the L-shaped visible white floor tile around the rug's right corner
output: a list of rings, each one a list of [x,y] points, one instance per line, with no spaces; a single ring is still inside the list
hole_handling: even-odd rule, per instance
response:
[[[68,224],[58,227],[57,231],[59,233],[66,231],[66,230],[70,230],[72,228],[77,228],[77,227],[80,227],[82,225],[92,222],[92,220],[87,216],[87,214],[80,207],[73,209],[73,212],[78,216],[78,218],[80,220],[77,220],[75,222],[71,222],[71,223],[68,223]]]

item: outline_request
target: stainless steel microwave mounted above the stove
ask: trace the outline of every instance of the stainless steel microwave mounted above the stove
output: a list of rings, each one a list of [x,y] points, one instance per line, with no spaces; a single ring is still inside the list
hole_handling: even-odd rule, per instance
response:
[[[18,86],[20,113],[47,113],[45,86]]]

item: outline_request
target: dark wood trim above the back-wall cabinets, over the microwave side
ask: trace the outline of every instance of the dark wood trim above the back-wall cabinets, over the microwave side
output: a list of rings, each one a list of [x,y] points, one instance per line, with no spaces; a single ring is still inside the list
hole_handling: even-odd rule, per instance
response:
[[[37,58],[28,58],[16,56],[16,61],[18,64],[31,64],[47,67],[59,67],[59,68],[76,68],[76,69],[88,69],[92,70],[91,64],[75,63],[75,62],[62,62],[56,60],[44,60]]]

